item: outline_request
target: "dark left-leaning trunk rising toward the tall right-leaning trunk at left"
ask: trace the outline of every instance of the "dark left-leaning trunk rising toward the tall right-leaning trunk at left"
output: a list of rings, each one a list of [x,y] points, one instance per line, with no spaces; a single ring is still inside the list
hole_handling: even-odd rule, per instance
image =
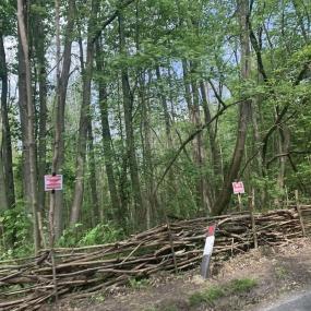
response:
[[[104,61],[103,61],[103,51],[100,44],[96,44],[96,70],[97,72],[104,72]],[[113,172],[113,149],[112,149],[112,140],[109,125],[109,113],[108,113],[108,98],[107,98],[107,86],[103,79],[98,81],[98,104],[100,110],[100,120],[101,120],[101,135],[103,135],[103,147],[104,147],[104,157],[105,157],[105,167],[108,179],[108,188],[111,200],[111,205],[113,210],[115,217],[117,222],[123,226],[125,225],[127,211],[125,206],[121,207],[120,199],[118,195],[118,190],[116,186],[116,178]]]

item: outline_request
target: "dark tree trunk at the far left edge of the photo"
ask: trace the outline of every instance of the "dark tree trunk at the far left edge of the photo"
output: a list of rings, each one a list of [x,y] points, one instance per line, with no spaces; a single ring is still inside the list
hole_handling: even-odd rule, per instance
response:
[[[0,191],[4,192],[1,194],[3,200],[1,200],[0,208],[10,208],[15,203],[15,190],[14,190],[14,179],[13,179],[13,167],[12,167],[12,145],[11,145],[11,131],[9,124],[8,115],[8,68],[5,61],[5,50],[3,37],[0,28],[0,79],[1,79],[1,148],[0,157],[2,164],[0,165],[1,187]]]

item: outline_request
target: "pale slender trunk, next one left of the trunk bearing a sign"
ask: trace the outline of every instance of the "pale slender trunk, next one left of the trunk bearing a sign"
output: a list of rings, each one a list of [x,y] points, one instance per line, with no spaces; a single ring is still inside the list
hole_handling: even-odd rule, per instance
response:
[[[37,219],[37,212],[38,212],[38,201],[37,201],[37,170],[36,170],[36,142],[35,142],[35,127],[34,127],[34,105],[33,105],[33,96],[32,96],[32,75],[31,75],[31,63],[29,63],[29,55],[28,55],[28,38],[26,33],[26,25],[25,25],[25,11],[24,11],[24,1],[17,0],[17,22],[19,22],[19,36],[22,52],[20,53],[21,58],[19,61],[24,62],[24,70],[25,70],[25,91],[26,91],[26,142],[25,146],[28,152],[29,158],[29,199],[31,199],[31,206],[33,213],[33,224],[34,224],[34,244],[35,244],[35,253],[37,254],[39,247],[40,247],[40,239],[39,239],[39,230],[38,230],[38,219]],[[21,96],[21,95],[20,95]]]

